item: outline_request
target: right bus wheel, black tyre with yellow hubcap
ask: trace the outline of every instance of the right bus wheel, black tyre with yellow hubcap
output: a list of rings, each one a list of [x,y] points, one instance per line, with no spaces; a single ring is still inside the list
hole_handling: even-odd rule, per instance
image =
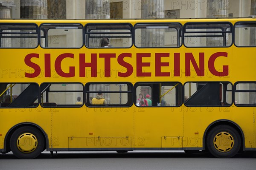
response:
[[[218,125],[207,135],[207,148],[217,158],[231,158],[241,146],[239,133],[231,126]]]

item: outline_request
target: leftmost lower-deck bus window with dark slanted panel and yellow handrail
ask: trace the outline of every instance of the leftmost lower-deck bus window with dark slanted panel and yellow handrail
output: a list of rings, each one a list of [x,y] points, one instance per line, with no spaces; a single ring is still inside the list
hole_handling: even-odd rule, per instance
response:
[[[0,108],[34,108],[38,106],[36,83],[0,83]]]

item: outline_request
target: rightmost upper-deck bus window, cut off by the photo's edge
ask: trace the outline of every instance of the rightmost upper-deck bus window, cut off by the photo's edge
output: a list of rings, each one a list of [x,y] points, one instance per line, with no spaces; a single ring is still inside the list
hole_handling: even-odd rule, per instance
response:
[[[235,24],[235,45],[241,47],[256,46],[256,22]]]

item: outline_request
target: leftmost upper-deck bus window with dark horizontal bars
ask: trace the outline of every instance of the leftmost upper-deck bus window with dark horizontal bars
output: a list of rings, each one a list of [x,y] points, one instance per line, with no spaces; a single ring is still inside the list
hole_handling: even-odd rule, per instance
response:
[[[37,46],[36,25],[0,23],[0,48],[36,48]]]

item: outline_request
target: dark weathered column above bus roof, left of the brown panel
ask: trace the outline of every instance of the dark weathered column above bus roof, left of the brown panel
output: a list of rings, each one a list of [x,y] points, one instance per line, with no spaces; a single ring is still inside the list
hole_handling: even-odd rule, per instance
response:
[[[47,0],[20,0],[20,18],[46,19]]]

